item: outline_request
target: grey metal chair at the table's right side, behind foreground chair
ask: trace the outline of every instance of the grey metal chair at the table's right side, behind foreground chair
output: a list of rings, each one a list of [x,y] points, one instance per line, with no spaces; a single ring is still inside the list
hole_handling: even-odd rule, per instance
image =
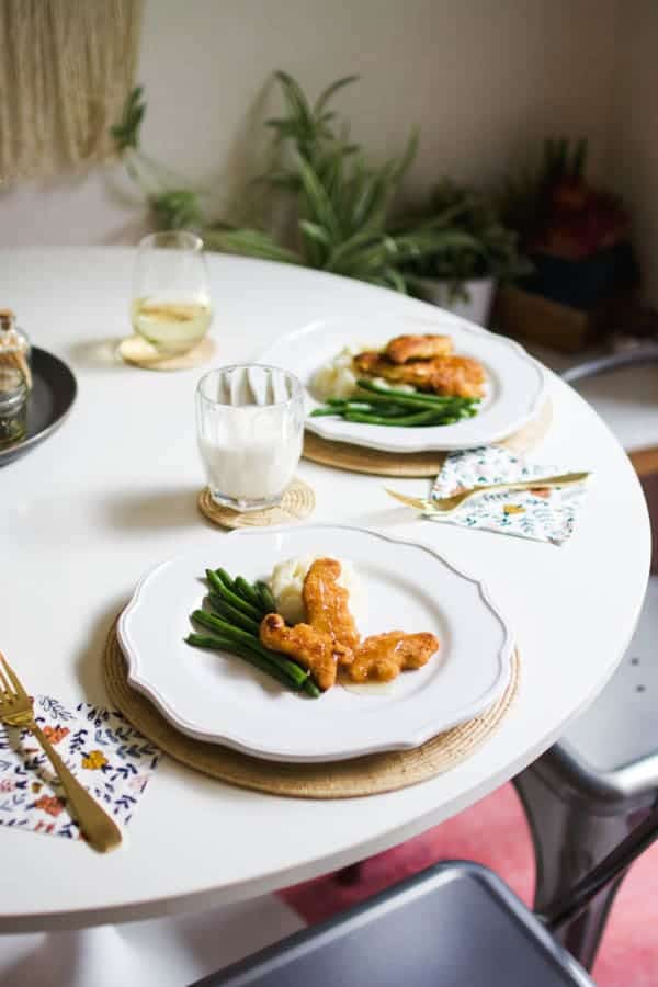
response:
[[[645,344],[571,367],[576,382],[621,367],[658,362],[658,344]],[[658,451],[631,454],[645,488],[654,529],[651,571],[658,572]],[[644,469],[643,469],[644,467]],[[644,472],[644,476],[643,476]],[[522,771],[514,785],[535,848],[534,907],[568,893],[639,819],[658,796],[658,576],[651,576],[642,616],[622,665],[565,737]],[[623,874],[559,939],[591,969]]]

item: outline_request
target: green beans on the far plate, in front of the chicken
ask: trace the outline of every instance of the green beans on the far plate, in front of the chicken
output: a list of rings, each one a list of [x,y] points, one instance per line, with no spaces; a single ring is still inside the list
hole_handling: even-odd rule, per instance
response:
[[[358,381],[361,392],[353,398],[329,398],[310,412],[313,418],[337,415],[344,421],[363,424],[427,428],[454,424],[463,418],[477,415],[479,398],[461,398],[399,390],[366,378]]]

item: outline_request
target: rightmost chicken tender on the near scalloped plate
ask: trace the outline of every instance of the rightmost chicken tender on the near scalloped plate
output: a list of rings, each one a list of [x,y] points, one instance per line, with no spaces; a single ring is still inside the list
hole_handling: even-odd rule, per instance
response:
[[[345,674],[352,682],[389,682],[407,668],[422,668],[438,650],[433,634],[374,634],[361,643]]]

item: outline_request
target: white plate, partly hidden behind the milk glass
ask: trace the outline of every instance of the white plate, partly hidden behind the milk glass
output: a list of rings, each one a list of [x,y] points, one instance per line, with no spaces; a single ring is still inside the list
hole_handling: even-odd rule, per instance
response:
[[[378,348],[395,336],[427,332],[451,336],[456,353],[474,356],[484,365],[486,396],[474,418],[451,426],[396,428],[309,417],[321,404],[310,389],[314,374],[343,347]],[[424,318],[374,315],[315,321],[281,337],[259,360],[291,371],[302,381],[308,431],[332,442],[350,442],[382,452],[450,451],[499,442],[537,417],[546,389],[542,365],[523,347],[442,309]]]

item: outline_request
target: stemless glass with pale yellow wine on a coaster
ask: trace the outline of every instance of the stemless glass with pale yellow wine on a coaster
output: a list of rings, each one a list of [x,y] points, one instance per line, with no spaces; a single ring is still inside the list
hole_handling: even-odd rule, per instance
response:
[[[177,229],[140,241],[132,319],[135,332],[163,356],[186,353],[203,339],[213,308],[201,237]]]

